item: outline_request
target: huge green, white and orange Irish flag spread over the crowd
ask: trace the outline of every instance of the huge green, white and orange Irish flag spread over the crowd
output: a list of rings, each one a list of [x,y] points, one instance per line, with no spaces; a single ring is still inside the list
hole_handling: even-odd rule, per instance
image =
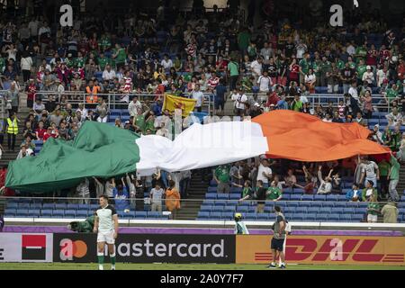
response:
[[[49,139],[37,157],[10,163],[6,186],[23,191],[72,187],[84,177],[110,177],[137,170],[148,175],[216,166],[267,154],[299,161],[329,161],[389,153],[367,139],[357,123],[320,121],[300,112],[268,112],[253,121],[193,124],[174,141],[139,136],[86,121],[76,139]]]

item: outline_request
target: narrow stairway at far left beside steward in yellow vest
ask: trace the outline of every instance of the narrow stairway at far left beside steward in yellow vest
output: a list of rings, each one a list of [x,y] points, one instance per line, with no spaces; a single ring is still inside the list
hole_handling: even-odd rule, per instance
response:
[[[27,108],[27,94],[21,93],[20,97],[20,107],[18,109],[17,117],[20,120],[18,123],[18,134],[15,137],[15,149],[14,152],[9,151],[7,148],[7,134],[4,133],[3,148],[4,153],[0,159],[0,166],[7,165],[10,161],[15,160],[20,152],[20,145],[23,143],[23,130],[24,130],[24,121],[28,117],[30,109]],[[7,117],[8,114],[5,114],[4,117]]]

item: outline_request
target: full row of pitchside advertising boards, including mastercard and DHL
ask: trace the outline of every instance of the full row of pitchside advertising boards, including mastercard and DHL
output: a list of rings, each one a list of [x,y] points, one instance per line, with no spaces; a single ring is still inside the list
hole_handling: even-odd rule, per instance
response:
[[[125,263],[268,264],[270,241],[270,235],[120,234],[115,251]],[[404,246],[405,237],[290,235],[285,260],[405,266]],[[95,263],[96,234],[0,233],[0,262]]]

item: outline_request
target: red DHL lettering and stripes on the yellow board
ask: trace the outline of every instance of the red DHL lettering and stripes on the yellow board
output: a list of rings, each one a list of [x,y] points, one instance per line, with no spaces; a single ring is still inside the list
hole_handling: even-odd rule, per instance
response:
[[[319,245],[311,238],[287,238],[285,258],[288,261],[354,261],[354,262],[387,262],[403,263],[404,254],[373,253],[379,239],[346,239],[328,238]],[[318,249],[318,247],[320,247]],[[255,253],[256,261],[271,261],[271,253]]]

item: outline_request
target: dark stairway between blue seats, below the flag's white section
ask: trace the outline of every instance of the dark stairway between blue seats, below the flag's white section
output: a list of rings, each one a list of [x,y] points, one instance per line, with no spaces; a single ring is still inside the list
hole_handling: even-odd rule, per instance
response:
[[[187,199],[190,201],[183,201],[181,203],[181,209],[177,214],[176,220],[196,219],[207,189],[208,184],[202,181],[202,174],[199,171],[194,171],[188,189]]]

